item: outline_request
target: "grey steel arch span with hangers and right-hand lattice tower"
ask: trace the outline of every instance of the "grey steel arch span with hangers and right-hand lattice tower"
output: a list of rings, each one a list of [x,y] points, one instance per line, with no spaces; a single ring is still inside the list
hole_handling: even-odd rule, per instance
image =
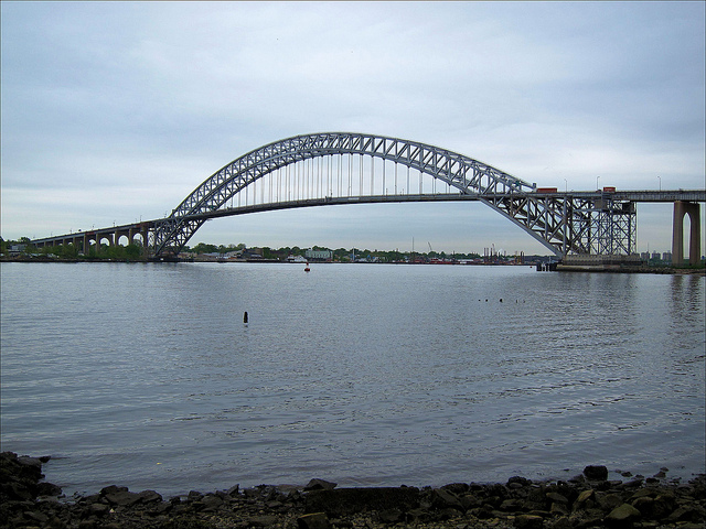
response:
[[[314,188],[312,195],[317,196],[298,194],[292,199],[292,190],[288,190],[289,194],[285,197],[279,194],[275,197],[270,184],[269,202],[248,206],[246,198],[245,206],[227,206],[234,196],[247,192],[275,171],[308,160],[335,155],[359,155],[373,160],[370,170],[365,172],[365,177],[371,182],[370,194],[363,193],[364,171],[361,161],[360,180],[353,185],[349,172],[347,193],[335,196],[322,193],[323,184],[311,182],[310,186]],[[383,174],[378,175],[378,180],[382,177],[383,181],[379,194],[373,193],[375,159],[383,160]],[[388,194],[385,188],[384,161],[394,162],[395,179],[399,164],[408,170],[416,170],[420,175],[432,176],[435,182],[446,184],[448,191],[424,193],[420,190],[419,193],[411,194],[408,185],[406,193]],[[339,159],[339,166],[341,163],[343,162]],[[350,159],[349,163],[352,165]],[[315,174],[309,177],[315,179]],[[329,171],[327,179],[330,181],[331,177]],[[291,185],[291,181],[289,183]],[[360,193],[352,192],[355,184],[360,187]],[[298,181],[293,185],[301,187],[307,184]],[[340,191],[341,185],[338,187]],[[549,190],[549,193],[538,191],[539,193],[534,184],[478,160],[416,141],[351,132],[303,134],[250,151],[206,179],[167,218],[154,222],[153,251],[156,257],[178,255],[203,223],[218,216],[315,205],[430,199],[480,201],[523,228],[557,256],[570,252],[629,255],[633,251],[634,207],[625,207],[625,203],[619,203],[616,207],[614,201],[605,197],[597,209],[596,193],[569,198],[556,190]]]

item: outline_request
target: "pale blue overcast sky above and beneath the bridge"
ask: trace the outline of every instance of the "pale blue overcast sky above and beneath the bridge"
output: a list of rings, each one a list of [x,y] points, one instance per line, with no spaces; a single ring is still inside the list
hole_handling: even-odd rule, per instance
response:
[[[3,0],[0,235],[160,218],[240,155],[328,131],[559,190],[703,190],[705,6]],[[671,204],[638,205],[639,251],[668,251],[671,233]],[[549,253],[472,202],[220,218],[189,245],[413,241]]]

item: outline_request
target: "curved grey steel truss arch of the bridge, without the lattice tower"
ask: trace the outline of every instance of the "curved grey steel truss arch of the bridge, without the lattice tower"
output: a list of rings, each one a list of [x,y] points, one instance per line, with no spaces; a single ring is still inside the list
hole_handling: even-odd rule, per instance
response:
[[[552,246],[541,233],[517,222],[512,212],[506,210],[505,204],[513,207],[513,196],[524,196],[534,190],[532,184],[478,160],[435,145],[376,134],[324,132],[275,141],[216,171],[186,196],[169,217],[156,222],[156,257],[179,253],[208,216],[224,208],[233,196],[265,175],[306,160],[336,154],[387,160],[430,175],[435,181],[456,190],[457,195],[468,195],[484,202],[558,253],[556,245]],[[498,197],[511,199],[499,202]],[[319,197],[315,204],[309,205],[325,204],[325,199],[327,197]],[[269,208],[302,205],[304,204],[301,202],[282,201],[279,205],[271,204]]]

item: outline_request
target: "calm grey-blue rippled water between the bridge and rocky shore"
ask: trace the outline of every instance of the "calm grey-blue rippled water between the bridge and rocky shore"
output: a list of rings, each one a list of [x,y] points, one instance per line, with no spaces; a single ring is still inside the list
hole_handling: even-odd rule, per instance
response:
[[[52,455],[46,479],[69,495],[312,477],[439,486],[568,478],[588,464],[705,472],[703,277],[270,263],[1,273],[2,450]]]

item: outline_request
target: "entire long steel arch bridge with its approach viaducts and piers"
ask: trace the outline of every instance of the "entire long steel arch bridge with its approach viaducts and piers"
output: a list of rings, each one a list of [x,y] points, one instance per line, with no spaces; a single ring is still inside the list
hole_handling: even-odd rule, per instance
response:
[[[700,260],[699,203],[706,190],[560,192],[537,187],[467,155],[376,134],[324,132],[279,140],[234,160],[199,185],[169,216],[45,237],[36,247],[139,241],[153,259],[173,259],[208,219],[344,204],[475,201],[509,218],[559,258],[631,256],[637,203],[674,203],[673,260]]]

